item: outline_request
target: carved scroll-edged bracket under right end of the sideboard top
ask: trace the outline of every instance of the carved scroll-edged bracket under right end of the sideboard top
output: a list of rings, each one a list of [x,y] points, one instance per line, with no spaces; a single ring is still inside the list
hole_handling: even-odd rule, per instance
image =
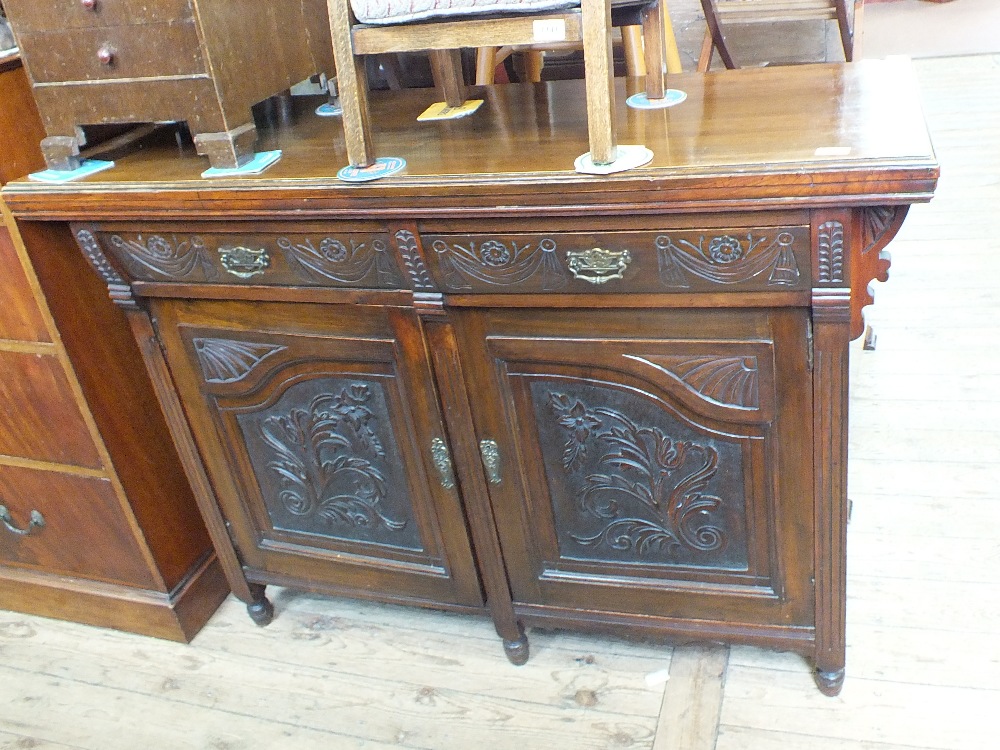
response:
[[[851,339],[865,332],[864,308],[875,302],[871,282],[886,281],[892,259],[885,246],[903,225],[909,206],[871,206],[861,210],[851,274]]]

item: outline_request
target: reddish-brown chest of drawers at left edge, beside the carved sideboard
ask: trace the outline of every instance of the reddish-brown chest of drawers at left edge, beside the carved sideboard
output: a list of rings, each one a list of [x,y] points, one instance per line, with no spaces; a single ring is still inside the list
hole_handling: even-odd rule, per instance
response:
[[[0,59],[0,184],[39,132]],[[125,318],[64,232],[0,214],[0,609],[188,640],[228,585]]]

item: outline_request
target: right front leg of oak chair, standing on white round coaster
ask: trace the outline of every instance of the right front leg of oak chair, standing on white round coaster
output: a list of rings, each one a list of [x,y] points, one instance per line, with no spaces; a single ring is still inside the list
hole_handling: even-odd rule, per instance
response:
[[[610,164],[615,145],[615,88],[611,59],[611,0],[582,0],[587,130],[594,164]]]

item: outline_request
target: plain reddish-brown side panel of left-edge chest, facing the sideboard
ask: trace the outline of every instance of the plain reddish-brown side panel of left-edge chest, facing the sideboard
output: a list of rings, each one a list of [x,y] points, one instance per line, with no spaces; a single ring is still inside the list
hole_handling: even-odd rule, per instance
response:
[[[211,544],[136,342],[68,227],[19,229],[137,533],[173,588]]]

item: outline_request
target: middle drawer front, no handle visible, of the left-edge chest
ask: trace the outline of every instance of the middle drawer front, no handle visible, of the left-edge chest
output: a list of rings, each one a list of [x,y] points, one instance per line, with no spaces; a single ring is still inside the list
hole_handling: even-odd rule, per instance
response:
[[[56,357],[0,351],[0,403],[0,453],[101,468]]]

